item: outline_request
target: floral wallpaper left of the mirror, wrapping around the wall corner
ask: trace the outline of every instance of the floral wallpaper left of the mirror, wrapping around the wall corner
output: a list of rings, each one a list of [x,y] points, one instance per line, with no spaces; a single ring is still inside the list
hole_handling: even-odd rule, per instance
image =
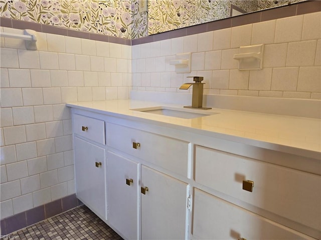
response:
[[[139,0],[0,0],[1,16],[124,37],[147,35]]]

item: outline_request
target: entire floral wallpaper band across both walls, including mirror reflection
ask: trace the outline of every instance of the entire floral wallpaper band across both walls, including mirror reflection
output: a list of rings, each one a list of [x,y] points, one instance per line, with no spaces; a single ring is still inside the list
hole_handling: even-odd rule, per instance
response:
[[[147,11],[139,12],[139,1]],[[3,17],[134,39],[302,0],[0,0]]]

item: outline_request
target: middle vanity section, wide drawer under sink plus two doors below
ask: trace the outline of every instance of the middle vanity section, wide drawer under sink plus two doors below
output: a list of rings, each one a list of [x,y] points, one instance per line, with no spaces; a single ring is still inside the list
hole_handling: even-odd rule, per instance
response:
[[[128,191],[124,189],[126,185],[122,183],[125,177],[135,179],[134,174],[128,173],[128,168],[135,159],[139,162],[140,172],[139,238],[185,239],[188,184],[161,171],[166,169],[176,175],[187,175],[189,143],[110,122],[106,123],[106,129],[107,147],[116,152],[108,151],[107,155],[108,219],[111,224],[125,238],[134,239],[126,233],[130,226],[125,226],[127,223],[130,225],[128,217],[133,217],[131,213],[133,204],[137,202],[134,199],[136,194],[132,192],[128,195]],[[131,159],[125,160],[124,156]],[[118,185],[118,182],[122,185]],[[134,180],[133,183],[133,186],[137,186],[137,181]],[[124,204],[128,205],[123,207]],[[116,212],[118,216],[115,216]],[[114,217],[119,218],[119,224],[113,223]],[[132,220],[131,224],[135,225],[136,221]]]

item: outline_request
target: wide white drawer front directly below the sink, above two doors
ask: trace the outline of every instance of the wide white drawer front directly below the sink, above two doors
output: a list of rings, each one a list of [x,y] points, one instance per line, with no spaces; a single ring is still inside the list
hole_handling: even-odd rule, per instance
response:
[[[106,127],[108,146],[187,176],[188,142],[109,122]]]

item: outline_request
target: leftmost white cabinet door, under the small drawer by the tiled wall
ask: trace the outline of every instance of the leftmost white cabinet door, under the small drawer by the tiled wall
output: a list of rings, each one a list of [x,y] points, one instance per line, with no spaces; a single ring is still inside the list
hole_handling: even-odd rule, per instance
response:
[[[105,149],[74,138],[77,197],[99,217],[106,219]],[[96,162],[101,165],[96,166]]]

